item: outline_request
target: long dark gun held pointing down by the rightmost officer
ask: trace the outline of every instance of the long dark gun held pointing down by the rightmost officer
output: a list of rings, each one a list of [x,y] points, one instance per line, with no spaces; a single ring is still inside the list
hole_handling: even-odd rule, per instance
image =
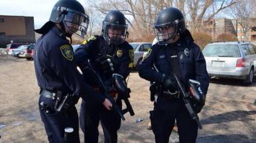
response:
[[[155,64],[153,65],[154,69],[159,72],[159,70],[157,69],[157,67],[155,66]],[[180,79],[178,78],[178,76],[175,74],[175,72],[172,72],[172,76],[174,76],[177,84],[178,84],[178,88],[182,94],[182,100],[184,101],[185,103],[185,106],[186,106],[186,109],[188,110],[188,113],[190,114],[190,117],[193,119],[193,120],[196,120],[196,123],[198,123],[198,128],[201,130],[202,129],[202,125],[199,121],[199,117],[196,113],[196,111],[194,110],[194,108],[192,107],[192,103],[190,102],[190,100],[188,100],[189,98],[189,94],[188,92],[186,92],[183,84],[180,82]]]

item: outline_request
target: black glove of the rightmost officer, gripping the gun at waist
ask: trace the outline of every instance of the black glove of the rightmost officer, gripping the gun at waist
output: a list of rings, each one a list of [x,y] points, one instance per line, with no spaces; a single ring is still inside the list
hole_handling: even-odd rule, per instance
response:
[[[170,92],[175,92],[178,90],[177,82],[174,76],[166,76],[162,75],[162,86],[164,86],[165,90],[169,90]]]

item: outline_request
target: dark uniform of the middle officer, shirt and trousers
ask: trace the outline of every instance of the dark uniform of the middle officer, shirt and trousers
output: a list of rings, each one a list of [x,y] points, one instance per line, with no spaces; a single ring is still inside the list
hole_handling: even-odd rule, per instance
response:
[[[97,89],[97,82],[94,80],[90,69],[88,69],[88,59],[91,59],[92,64],[95,65],[96,71],[99,73],[103,81],[107,86],[111,84],[111,78],[113,73],[121,74],[123,78],[127,78],[131,68],[133,67],[133,48],[129,43],[123,42],[120,45],[109,44],[103,39],[103,36],[93,36],[87,42],[75,52],[76,61],[78,66],[83,72],[84,80],[89,81],[90,85]],[[115,71],[105,73],[99,65],[95,63],[95,60],[102,55],[107,55],[110,57]],[[97,96],[92,94],[92,96]],[[103,102],[105,98],[100,97]],[[121,107],[121,98],[117,98],[117,105]],[[83,100],[80,109],[80,126],[84,131],[85,142],[98,142],[98,126],[99,121],[101,121],[101,126],[103,128],[105,142],[117,142],[117,130],[121,125],[121,118],[119,115],[111,110],[108,111],[102,104],[97,104],[94,102],[88,103]]]

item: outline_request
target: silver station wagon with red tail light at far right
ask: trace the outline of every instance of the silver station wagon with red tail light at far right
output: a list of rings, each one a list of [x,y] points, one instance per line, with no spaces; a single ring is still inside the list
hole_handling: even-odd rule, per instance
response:
[[[209,43],[203,50],[210,76],[253,82],[256,72],[256,46],[250,42]]]

